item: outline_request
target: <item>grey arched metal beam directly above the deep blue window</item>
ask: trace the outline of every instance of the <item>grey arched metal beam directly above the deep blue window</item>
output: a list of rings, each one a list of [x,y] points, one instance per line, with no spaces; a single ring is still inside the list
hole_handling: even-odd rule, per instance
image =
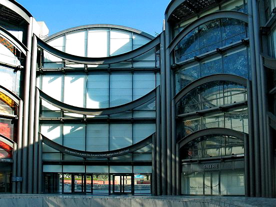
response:
[[[171,40],[171,42],[167,46],[167,48],[169,48],[169,52],[171,52],[174,49],[174,47],[182,40],[182,38],[186,36],[192,29],[203,23],[206,23],[207,21],[214,20],[217,18],[235,18],[244,22],[248,22],[248,14],[240,11],[224,10],[206,14],[196,19],[195,21],[189,23]]]

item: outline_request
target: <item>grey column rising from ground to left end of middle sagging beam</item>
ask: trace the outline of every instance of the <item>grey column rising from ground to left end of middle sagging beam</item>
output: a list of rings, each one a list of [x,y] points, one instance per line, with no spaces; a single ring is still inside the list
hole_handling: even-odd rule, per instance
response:
[[[35,90],[35,108],[34,108],[34,143],[33,143],[33,193],[37,193],[38,180],[38,131],[39,131],[39,90]]]

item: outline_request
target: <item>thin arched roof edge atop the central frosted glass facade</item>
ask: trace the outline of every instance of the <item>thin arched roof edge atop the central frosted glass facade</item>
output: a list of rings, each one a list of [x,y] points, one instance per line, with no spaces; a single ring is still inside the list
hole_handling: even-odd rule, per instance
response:
[[[47,38],[43,39],[43,41],[47,42],[53,38],[56,38],[62,34],[68,33],[70,31],[77,31],[77,30],[81,30],[81,29],[85,29],[85,28],[117,28],[117,29],[122,29],[122,30],[126,30],[126,31],[132,31],[135,32],[137,34],[141,34],[147,38],[150,39],[154,39],[155,37],[138,29],[135,28],[131,28],[131,27],[127,27],[127,26],[122,26],[122,25],[116,25],[116,24],[86,24],[86,25],[80,25],[80,26],[75,26],[75,27],[71,27],[71,28],[67,28],[64,29],[62,31],[56,32],[50,36],[48,36]]]

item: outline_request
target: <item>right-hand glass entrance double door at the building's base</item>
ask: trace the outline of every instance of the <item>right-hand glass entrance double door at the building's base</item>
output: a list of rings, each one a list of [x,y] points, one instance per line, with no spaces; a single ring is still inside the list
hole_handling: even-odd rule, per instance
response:
[[[113,174],[111,193],[133,194],[133,179],[131,174]]]

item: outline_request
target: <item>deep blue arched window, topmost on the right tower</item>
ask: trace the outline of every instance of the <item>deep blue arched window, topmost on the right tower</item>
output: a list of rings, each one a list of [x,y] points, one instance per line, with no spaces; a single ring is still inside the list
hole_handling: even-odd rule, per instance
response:
[[[175,62],[203,54],[247,37],[245,22],[234,18],[208,21],[191,30],[175,47]]]

